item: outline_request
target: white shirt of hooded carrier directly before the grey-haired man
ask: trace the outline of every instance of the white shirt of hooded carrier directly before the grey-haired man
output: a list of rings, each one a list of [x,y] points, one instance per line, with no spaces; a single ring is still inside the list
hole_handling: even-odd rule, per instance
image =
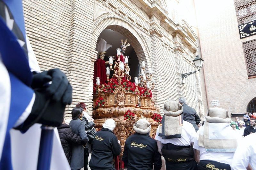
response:
[[[194,126],[187,121],[183,121],[181,138],[162,139],[162,137],[158,136],[158,134],[159,134],[159,126],[156,130],[156,140],[161,141],[162,144],[171,143],[177,146],[190,146],[191,142],[194,142],[196,138],[196,130]]]

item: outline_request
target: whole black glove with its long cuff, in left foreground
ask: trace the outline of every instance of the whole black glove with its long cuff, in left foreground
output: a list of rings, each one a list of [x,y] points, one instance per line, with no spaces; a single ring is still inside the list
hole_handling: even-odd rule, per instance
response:
[[[60,69],[35,74],[31,87],[36,94],[35,102],[28,118],[17,129],[26,131],[35,123],[59,126],[66,105],[72,102],[72,87],[66,75]]]

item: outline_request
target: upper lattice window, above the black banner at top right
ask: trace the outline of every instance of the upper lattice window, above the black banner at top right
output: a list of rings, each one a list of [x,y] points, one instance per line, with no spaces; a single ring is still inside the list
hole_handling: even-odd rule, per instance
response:
[[[256,0],[234,0],[238,25],[256,20]]]

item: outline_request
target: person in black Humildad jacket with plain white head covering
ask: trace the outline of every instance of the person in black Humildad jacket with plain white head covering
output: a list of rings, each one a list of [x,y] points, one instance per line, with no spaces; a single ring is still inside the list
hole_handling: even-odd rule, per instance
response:
[[[92,170],[115,170],[112,165],[114,156],[121,153],[121,146],[113,133],[116,122],[108,119],[102,125],[102,129],[95,134],[92,141],[92,156],[89,166]]]

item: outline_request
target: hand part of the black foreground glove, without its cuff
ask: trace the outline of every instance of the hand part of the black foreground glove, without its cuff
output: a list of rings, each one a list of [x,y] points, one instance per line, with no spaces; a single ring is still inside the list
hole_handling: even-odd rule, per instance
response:
[[[50,81],[52,81],[51,84]],[[45,89],[44,93],[51,96],[54,101],[62,101],[64,104],[71,104],[72,102],[72,87],[66,75],[58,68],[35,74],[31,87],[33,89]]]

